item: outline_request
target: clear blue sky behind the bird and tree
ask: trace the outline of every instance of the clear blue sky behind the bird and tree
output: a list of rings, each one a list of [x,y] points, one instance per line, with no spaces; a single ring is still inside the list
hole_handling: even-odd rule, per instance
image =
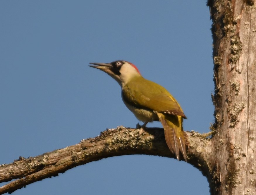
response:
[[[135,127],[111,77],[89,62],[126,60],[178,100],[185,130],[214,121],[212,37],[206,1],[0,1],[0,164]],[[153,122],[148,127],[161,127]],[[13,194],[209,194],[193,166],[118,156]]]

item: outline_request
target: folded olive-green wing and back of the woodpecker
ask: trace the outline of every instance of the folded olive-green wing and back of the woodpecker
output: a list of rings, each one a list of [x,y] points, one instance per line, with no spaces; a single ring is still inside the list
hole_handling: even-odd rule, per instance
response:
[[[174,97],[161,85],[138,77],[122,89],[123,101],[137,107],[186,118]]]

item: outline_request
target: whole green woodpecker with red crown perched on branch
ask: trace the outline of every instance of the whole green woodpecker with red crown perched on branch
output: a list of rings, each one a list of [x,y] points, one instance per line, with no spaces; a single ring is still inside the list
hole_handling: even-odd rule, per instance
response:
[[[148,122],[160,121],[170,151],[178,160],[182,154],[187,161],[188,137],[182,128],[186,116],[176,99],[161,85],[143,78],[138,68],[130,62],[118,60],[90,64],[90,67],[102,70],[118,82],[124,104],[138,120],[144,122],[142,128]]]

